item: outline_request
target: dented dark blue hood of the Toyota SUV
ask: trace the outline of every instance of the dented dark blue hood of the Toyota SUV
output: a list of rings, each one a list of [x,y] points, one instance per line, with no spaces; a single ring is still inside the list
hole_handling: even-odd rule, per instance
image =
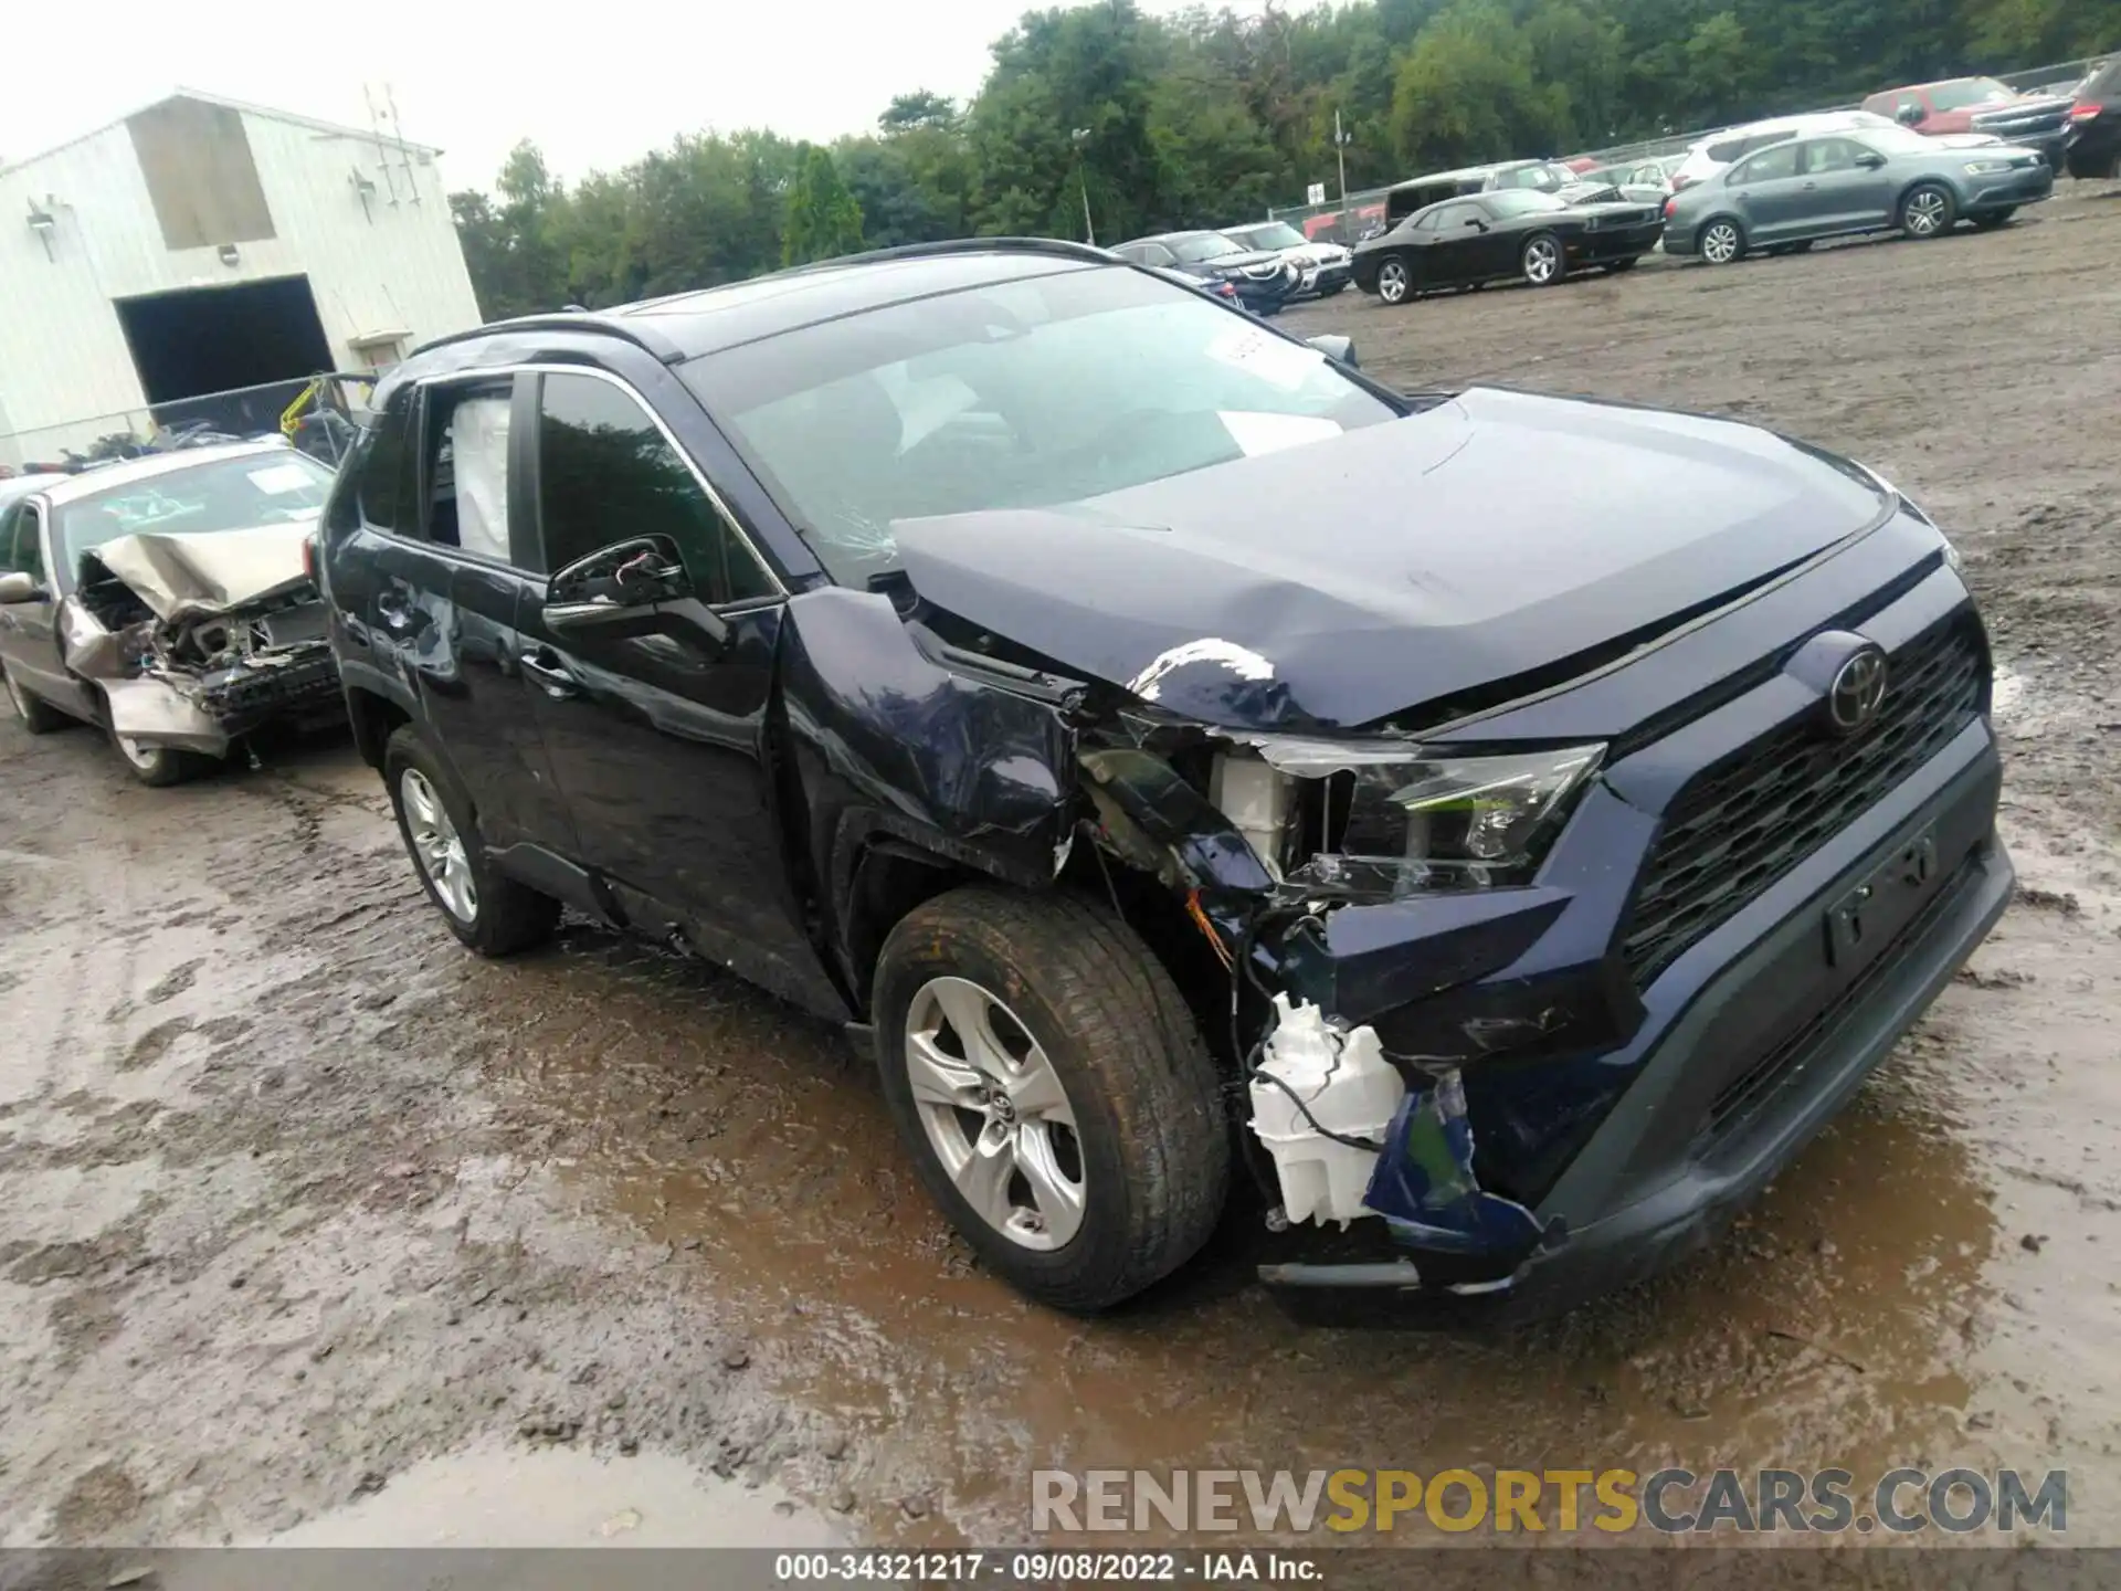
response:
[[[1071,672],[1205,723],[1351,728],[1654,630],[1888,507],[1854,465],[1754,426],[1476,388],[893,537],[927,602]]]

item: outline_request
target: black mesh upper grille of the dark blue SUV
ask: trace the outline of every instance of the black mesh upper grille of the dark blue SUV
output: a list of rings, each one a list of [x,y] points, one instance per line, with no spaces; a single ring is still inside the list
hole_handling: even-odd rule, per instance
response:
[[[1665,812],[1620,938],[1635,984],[1648,986],[1943,751],[1981,711],[1985,670],[1973,619],[1947,619],[1892,653],[1864,734],[1824,738],[1807,715],[1697,774]]]

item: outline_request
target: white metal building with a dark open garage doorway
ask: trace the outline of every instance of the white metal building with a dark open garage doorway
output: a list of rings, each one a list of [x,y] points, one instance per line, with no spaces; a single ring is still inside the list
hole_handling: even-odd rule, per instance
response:
[[[0,462],[479,322],[437,151],[180,89],[0,170]],[[225,409],[227,405],[221,405]]]

